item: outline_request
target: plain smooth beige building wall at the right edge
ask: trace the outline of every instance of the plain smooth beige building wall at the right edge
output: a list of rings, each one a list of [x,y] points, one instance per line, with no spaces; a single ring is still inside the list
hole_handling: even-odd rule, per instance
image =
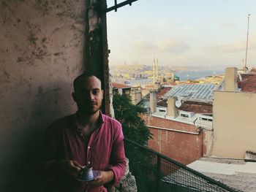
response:
[[[255,109],[256,93],[214,92],[212,156],[244,158],[246,150],[256,151]]]

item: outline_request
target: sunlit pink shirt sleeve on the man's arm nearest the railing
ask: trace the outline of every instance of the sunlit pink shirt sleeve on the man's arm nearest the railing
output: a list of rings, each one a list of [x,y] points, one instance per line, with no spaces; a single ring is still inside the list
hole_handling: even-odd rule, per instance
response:
[[[113,140],[112,152],[110,155],[110,170],[114,173],[113,185],[116,185],[123,177],[127,159],[124,153],[124,134],[120,123],[116,124],[116,134]]]

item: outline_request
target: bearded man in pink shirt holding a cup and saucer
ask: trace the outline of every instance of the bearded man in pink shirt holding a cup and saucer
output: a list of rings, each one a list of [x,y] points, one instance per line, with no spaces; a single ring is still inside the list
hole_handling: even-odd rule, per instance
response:
[[[107,191],[103,185],[118,183],[126,169],[121,124],[100,112],[103,91],[97,77],[81,74],[73,85],[78,111],[56,120],[46,134],[47,191]],[[78,181],[86,164],[99,170],[99,176],[90,182]]]

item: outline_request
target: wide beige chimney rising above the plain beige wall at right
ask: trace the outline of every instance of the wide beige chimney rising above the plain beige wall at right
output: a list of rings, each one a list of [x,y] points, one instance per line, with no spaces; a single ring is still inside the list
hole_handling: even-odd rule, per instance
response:
[[[225,71],[225,91],[237,91],[238,69],[236,67],[228,67]]]

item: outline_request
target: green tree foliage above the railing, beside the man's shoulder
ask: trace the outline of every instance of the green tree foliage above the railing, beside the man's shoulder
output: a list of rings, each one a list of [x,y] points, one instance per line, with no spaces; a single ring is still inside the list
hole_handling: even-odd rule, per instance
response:
[[[146,110],[132,104],[129,96],[118,94],[113,96],[113,108],[116,119],[123,126],[124,137],[138,142],[140,145],[146,145],[150,139],[150,131],[139,116],[146,114]]]

